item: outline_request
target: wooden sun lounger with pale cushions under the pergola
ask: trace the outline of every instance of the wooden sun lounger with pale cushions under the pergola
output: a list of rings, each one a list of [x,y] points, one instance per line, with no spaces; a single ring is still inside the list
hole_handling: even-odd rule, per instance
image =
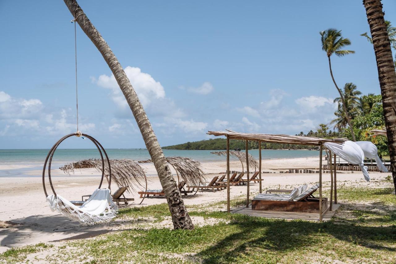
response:
[[[300,186],[290,194],[259,193],[251,202],[252,210],[284,212],[319,212],[319,198],[313,193],[319,188],[316,184],[309,189]],[[322,212],[327,210],[327,198],[322,198]]]

